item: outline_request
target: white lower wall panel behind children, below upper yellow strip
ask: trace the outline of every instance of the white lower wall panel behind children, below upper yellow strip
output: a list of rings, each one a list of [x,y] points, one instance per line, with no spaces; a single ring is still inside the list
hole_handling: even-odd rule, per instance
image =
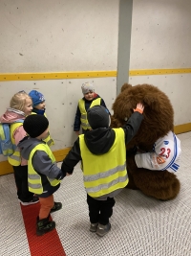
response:
[[[116,99],[116,78],[2,81],[0,82],[0,114],[2,115],[6,111],[14,93],[20,90],[25,90],[27,93],[32,89],[38,90],[44,94],[46,100],[46,114],[50,121],[50,131],[55,142],[52,150],[71,147],[77,138],[73,127],[74,116],[78,100],[83,97],[81,84],[85,81],[93,82],[96,93],[103,98],[108,109],[112,112],[112,105]]]

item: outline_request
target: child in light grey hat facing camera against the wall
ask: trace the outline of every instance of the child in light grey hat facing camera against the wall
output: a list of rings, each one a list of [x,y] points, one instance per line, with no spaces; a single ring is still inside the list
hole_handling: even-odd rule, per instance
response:
[[[78,101],[75,118],[74,118],[74,132],[79,135],[80,126],[82,133],[90,129],[87,119],[87,111],[94,105],[102,105],[105,108],[104,100],[95,92],[95,87],[91,82],[84,82],[81,86],[84,97]],[[109,110],[108,110],[109,112]]]

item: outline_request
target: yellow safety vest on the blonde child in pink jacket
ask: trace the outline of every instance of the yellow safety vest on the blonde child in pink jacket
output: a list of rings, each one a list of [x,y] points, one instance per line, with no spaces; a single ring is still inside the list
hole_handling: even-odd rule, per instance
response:
[[[23,123],[13,123],[10,127],[11,132],[11,142],[13,145],[15,145],[15,140],[13,137],[14,130],[16,128],[19,128],[23,125]],[[15,151],[11,154],[11,156],[8,156],[8,161],[13,166],[19,166],[21,164],[21,154],[19,148],[16,148]]]

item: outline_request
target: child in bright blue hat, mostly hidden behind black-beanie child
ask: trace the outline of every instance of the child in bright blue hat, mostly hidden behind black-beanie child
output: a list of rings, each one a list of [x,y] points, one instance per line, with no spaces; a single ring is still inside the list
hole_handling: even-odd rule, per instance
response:
[[[29,95],[32,98],[32,114],[44,115],[45,117],[47,117],[45,113],[46,104],[44,95],[36,90],[32,90]],[[49,147],[54,145],[53,138],[50,135],[50,131],[48,132],[47,137],[44,139],[44,141],[49,145]]]

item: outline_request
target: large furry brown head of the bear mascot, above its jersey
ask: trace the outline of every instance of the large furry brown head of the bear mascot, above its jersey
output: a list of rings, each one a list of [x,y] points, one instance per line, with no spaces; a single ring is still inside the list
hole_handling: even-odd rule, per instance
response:
[[[138,103],[144,105],[144,120],[137,135],[127,145],[149,150],[153,144],[174,128],[174,111],[168,97],[158,87],[150,84],[132,86],[125,83],[113,105],[112,128],[121,128],[133,113]]]

